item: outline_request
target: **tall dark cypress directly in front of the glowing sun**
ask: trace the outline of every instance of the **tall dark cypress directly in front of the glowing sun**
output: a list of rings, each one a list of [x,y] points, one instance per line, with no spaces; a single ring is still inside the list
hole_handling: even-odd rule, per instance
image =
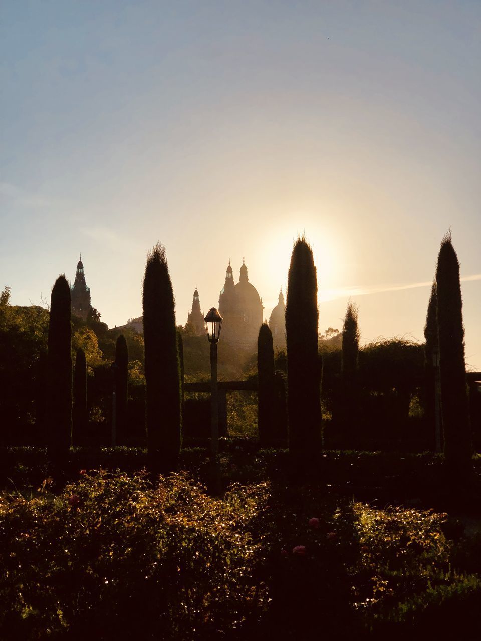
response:
[[[305,238],[298,238],[292,250],[285,309],[289,451],[294,474],[310,470],[321,447],[318,319],[314,257]]]

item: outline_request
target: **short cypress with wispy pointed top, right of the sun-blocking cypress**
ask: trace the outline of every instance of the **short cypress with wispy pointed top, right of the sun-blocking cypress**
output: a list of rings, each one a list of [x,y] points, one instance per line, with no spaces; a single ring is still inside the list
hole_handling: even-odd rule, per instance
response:
[[[346,447],[353,447],[356,433],[355,424],[359,423],[359,324],[358,310],[349,301],[342,326],[341,356],[341,399],[339,411],[342,430],[348,441]]]

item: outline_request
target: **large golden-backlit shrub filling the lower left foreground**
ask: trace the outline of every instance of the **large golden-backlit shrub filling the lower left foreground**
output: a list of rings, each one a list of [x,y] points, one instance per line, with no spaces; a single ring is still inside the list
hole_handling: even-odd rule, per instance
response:
[[[48,489],[0,502],[0,638],[203,638],[264,603],[248,529],[265,488],[94,472]]]

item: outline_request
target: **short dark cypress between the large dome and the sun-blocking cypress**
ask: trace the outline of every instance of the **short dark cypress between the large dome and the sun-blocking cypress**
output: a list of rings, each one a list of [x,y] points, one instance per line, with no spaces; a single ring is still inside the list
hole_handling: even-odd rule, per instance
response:
[[[274,347],[269,325],[264,322],[257,338],[258,426],[261,447],[272,447],[276,439]]]

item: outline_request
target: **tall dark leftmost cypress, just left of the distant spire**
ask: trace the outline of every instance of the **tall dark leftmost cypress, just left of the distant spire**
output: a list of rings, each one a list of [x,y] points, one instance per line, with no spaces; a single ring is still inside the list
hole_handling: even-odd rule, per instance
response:
[[[72,325],[70,287],[59,276],[52,289],[47,356],[47,449],[55,465],[72,444]]]

